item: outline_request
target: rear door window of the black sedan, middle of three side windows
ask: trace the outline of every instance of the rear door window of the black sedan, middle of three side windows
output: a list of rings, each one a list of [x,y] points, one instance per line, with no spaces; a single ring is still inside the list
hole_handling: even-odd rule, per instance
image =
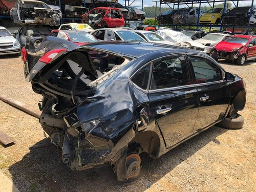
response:
[[[151,90],[185,86],[189,83],[184,56],[176,56],[154,63]]]

